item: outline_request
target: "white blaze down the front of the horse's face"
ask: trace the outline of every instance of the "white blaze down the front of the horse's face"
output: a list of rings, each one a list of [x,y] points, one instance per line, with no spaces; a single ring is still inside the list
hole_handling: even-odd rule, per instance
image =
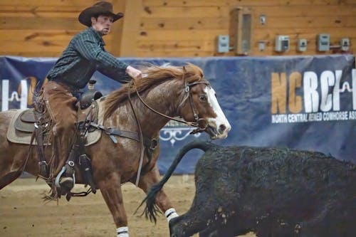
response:
[[[218,100],[216,99],[215,90],[209,86],[204,89],[208,96],[208,102],[216,113],[216,117],[208,118],[208,124],[216,129],[217,135],[214,138],[226,138],[231,130],[231,125],[226,119],[224,112],[221,110]]]

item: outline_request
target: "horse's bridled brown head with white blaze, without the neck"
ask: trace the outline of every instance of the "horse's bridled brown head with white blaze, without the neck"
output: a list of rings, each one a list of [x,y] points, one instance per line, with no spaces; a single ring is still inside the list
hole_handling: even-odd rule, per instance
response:
[[[186,69],[184,68],[184,70]],[[204,79],[200,68],[198,71],[200,74],[198,77],[194,75],[190,80],[184,78],[184,99],[179,105],[179,115],[186,121],[195,122],[198,128],[193,133],[206,132],[211,139],[226,138],[231,130],[231,125],[221,110],[215,90]],[[198,78],[198,80],[194,78]]]

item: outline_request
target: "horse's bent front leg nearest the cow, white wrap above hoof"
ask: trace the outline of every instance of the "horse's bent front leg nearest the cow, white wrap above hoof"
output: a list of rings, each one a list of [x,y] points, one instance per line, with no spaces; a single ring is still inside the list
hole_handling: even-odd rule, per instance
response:
[[[156,164],[150,172],[147,172],[146,174],[142,175],[142,177],[140,177],[138,186],[147,194],[147,191],[150,191],[152,184],[159,182],[159,180],[160,176]],[[176,210],[173,208],[172,202],[169,201],[167,194],[163,190],[160,190],[157,193],[155,204],[159,207],[159,209],[161,209],[161,211],[163,211],[164,216],[166,216],[168,222],[172,218],[178,216]]]

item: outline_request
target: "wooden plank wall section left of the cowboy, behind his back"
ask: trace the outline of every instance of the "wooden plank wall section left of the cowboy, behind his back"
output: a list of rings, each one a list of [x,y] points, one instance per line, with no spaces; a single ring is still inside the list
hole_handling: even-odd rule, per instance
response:
[[[85,28],[78,14],[95,1],[1,0],[0,55],[58,57]]]

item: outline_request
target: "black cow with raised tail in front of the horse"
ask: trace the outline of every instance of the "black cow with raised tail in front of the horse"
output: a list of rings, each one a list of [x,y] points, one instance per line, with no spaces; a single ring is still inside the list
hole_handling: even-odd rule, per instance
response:
[[[196,194],[189,211],[169,221],[171,236],[356,236],[355,164],[320,152],[210,142],[184,146],[152,186],[142,201],[151,221],[155,194],[194,148],[205,152],[195,170]]]

